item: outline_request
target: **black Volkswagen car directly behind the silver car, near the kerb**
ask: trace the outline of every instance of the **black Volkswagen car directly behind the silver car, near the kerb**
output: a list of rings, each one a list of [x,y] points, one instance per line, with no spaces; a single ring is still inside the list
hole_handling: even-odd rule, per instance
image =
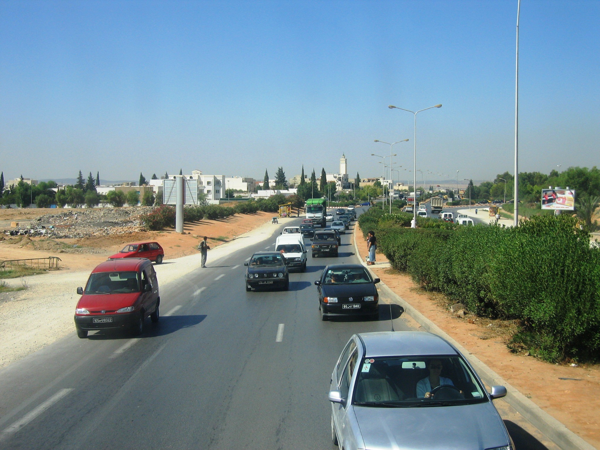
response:
[[[323,269],[320,280],[314,282],[319,290],[321,319],[346,314],[379,317],[379,295],[373,278],[360,264],[334,264]]]

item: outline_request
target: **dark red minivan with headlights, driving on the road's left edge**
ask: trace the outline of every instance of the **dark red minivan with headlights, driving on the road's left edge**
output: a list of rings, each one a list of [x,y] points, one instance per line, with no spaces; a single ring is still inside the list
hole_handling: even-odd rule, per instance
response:
[[[158,280],[146,258],[113,259],[96,266],[75,309],[77,336],[98,329],[129,329],[141,334],[150,316],[158,322]]]

